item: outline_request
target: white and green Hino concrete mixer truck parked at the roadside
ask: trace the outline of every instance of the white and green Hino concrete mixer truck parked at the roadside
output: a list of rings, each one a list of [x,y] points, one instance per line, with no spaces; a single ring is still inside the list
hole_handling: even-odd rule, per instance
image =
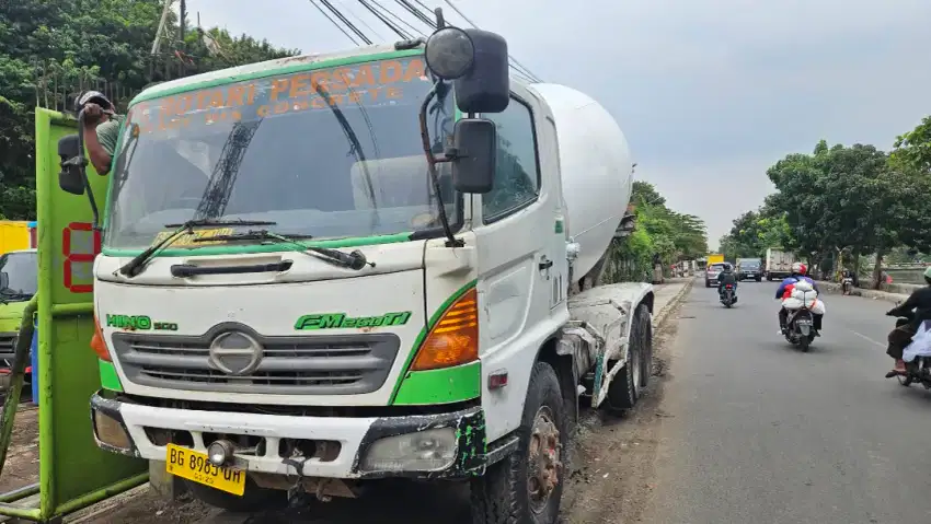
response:
[[[579,409],[651,376],[652,288],[601,284],[624,136],[493,33],[151,86],[110,176],[94,436],[153,484],[251,511],[458,480],[475,522],[553,523]]]

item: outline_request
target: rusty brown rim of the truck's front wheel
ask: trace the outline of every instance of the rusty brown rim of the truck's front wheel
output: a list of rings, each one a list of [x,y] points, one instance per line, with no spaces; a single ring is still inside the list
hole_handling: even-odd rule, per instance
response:
[[[537,416],[533,417],[527,457],[527,492],[530,510],[533,513],[542,513],[560,484],[563,467],[560,430],[553,422],[553,414],[549,406],[540,406]]]

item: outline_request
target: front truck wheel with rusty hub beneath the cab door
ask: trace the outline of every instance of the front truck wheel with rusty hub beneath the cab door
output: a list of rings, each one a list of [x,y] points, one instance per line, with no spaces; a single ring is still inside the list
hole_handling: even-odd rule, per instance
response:
[[[474,524],[554,524],[560,514],[568,446],[556,372],[537,362],[530,374],[517,450],[473,479]]]

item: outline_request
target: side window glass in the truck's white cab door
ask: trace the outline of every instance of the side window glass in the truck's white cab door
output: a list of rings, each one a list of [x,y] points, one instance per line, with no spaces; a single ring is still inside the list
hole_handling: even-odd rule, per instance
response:
[[[530,108],[510,98],[503,113],[483,115],[497,127],[497,166],[494,189],[482,196],[485,223],[501,220],[537,200],[540,170]]]

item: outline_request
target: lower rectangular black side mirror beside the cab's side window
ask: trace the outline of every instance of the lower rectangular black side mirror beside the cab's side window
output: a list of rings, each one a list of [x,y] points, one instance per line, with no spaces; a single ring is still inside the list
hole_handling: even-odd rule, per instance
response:
[[[462,118],[453,131],[452,185],[460,193],[485,194],[494,188],[497,128],[483,118]]]

